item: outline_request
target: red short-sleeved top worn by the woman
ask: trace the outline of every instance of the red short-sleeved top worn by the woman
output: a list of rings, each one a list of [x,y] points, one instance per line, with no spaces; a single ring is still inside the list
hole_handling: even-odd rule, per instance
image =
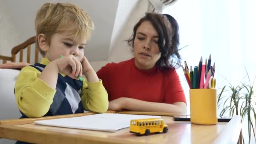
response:
[[[120,63],[111,63],[97,72],[109,95],[109,101],[120,97],[142,101],[172,104],[186,103],[184,91],[175,69],[161,70],[157,66],[140,70],[134,58]]]

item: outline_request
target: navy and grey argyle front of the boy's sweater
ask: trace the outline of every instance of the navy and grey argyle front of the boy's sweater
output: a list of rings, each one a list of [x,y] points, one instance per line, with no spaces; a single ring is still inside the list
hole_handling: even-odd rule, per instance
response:
[[[45,65],[36,63],[31,65],[31,67],[34,67],[38,71],[42,72]],[[56,93],[53,97],[53,103],[51,104],[49,111],[44,116],[82,113],[83,105],[80,98],[82,88],[82,81],[74,80],[69,76],[63,77],[61,74],[59,74],[56,85]],[[27,117],[22,112],[21,114],[21,118]]]

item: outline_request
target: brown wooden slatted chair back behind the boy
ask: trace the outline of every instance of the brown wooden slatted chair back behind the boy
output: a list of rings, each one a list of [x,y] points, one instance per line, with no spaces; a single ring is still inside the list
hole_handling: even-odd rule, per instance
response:
[[[7,61],[16,62],[16,54],[19,53],[19,62],[23,61],[23,50],[27,48],[27,63],[30,63],[31,45],[35,43],[35,36],[30,37],[24,43],[21,43],[11,49],[11,57],[1,56],[0,60],[3,60],[3,64]],[[38,50],[35,48],[35,63],[38,62]]]

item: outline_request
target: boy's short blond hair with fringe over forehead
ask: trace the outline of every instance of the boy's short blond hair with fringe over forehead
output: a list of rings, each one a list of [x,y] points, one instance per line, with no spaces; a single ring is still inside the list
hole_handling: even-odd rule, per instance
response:
[[[88,13],[80,7],[71,3],[45,3],[35,18],[36,47],[44,56],[44,51],[39,47],[37,37],[45,35],[48,45],[55,33],[68,33],[75,38],[86,38],[89,40],[94,30],[94,24]]]

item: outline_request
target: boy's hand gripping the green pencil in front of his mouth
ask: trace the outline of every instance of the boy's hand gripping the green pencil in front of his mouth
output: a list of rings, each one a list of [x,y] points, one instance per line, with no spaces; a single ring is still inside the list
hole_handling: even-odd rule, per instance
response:
[[[82,64],[75,58],[75,56],[64,56],[63,58],[59,58],[54,61],[59,67],[59,72],[76,80],[79,80],[77,76],[82,77]]]

